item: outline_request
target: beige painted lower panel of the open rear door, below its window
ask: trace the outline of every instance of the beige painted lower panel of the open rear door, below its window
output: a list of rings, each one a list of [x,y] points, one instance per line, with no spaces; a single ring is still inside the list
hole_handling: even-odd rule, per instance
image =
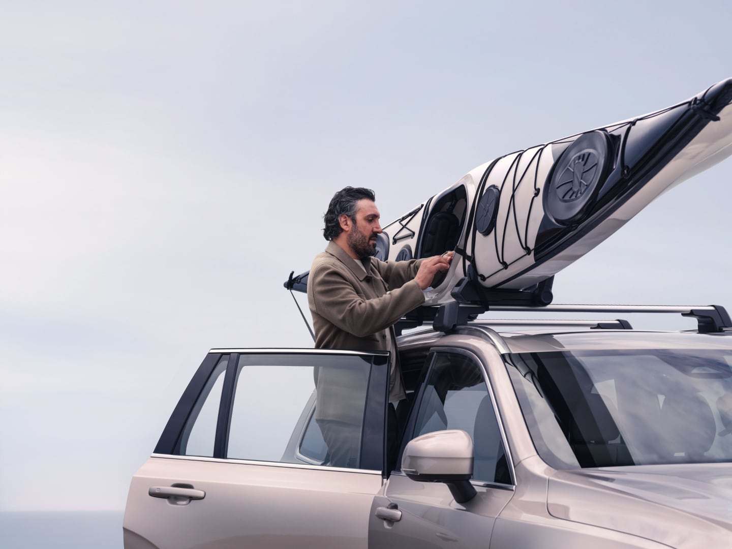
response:
[[[124,547],[365,549],[381,483],[380,473],[150,458],[132,479]],[[186,504],[148,495],[173,484],[206,495]]]

